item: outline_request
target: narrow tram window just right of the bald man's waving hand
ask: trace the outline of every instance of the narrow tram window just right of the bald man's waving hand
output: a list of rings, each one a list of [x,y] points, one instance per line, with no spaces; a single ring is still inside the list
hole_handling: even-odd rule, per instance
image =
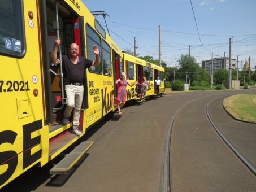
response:
[[[111,76],[111,58],[110,58],[110,46],[102,41],[102,62],[103,62],[103,74]]]

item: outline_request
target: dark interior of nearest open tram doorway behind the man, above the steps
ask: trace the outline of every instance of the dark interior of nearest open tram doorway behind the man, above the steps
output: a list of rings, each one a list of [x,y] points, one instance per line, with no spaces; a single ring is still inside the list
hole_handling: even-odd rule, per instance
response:
[[[47,42],[48,44],[44,49],[47,50],[45,51],[46,53],[43,53],[42,55],[50,55],[51,51],[53,50],[55,38],[59,36],[62,44],[58,51],[58,58],[60,58],[60,54],[68,54],[68,48],[73,42],[80,47],[79,56],[85,56],[83,17],[77,16],[75,12],[73,12],[67,5],[64,5],[63,3],[58,2],[56,4],[55,1],[45,1],[45,3],[46,19],[41,19],[41,26],[45,27],[45,37],[44,34],[41,36],[42,41]],[[42,43],[42,46],[44,46],[44,43]],[[50,60],[50,58],[48,60]],[[48,81],[45,83],[45,121],[61,127],[59,124],[62,124],[64,104],[66,104],[64,85],[61,80],[61,76],[63,76],[61,69],[62,67],[60,67],[60,65],[46,64],[49,62],[43,63],[44,67],[46,68],[45,77],[47,77],[45,78],[45,82]],[[50,71],[51,73],[49,73]],[[86,80],[84,82],[86,82]],[[86,108],[87,106],[88,99],[86,98],[86,94],[84,94],[82,107]],[[55,127],[54,129],[57,128]]]

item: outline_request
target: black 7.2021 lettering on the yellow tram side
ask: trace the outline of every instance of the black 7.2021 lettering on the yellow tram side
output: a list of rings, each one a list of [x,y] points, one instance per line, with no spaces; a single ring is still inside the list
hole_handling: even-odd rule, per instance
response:
[[[1,81],[0,93],[13,91],[29,91],[28,81]]]

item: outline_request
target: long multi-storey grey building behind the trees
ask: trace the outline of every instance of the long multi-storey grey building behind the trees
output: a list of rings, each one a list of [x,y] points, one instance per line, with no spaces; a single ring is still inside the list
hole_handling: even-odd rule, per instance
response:
[[[236,59],[232,59],[231,62],[231,69],[236,69],[237,63]],[[205,69],[205,71],[209,74],[211,74],[212,66],[211,66],[211,59],[210,60],[203,60],[202,61],[202,68]],[[213,59],[213,72],[216,70],[223,68],[223,69],[229,69],[229,58],[214,58]]]

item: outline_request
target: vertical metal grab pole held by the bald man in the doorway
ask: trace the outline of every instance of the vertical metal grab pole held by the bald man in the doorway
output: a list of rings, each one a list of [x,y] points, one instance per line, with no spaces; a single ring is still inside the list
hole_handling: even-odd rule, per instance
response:
[[[56,30],[57,30],[57,38],[59,38],[59,15],[58,15],[58,0],[55,2],[56,8]],[[61,90],[62,90],[62,104],[67,104],[66,98],[64,98],[64,84],[63,84],[63,69],[62,69],[62,49],[59,46],[59,60],[60,60],[60,82],[61,82]]]

